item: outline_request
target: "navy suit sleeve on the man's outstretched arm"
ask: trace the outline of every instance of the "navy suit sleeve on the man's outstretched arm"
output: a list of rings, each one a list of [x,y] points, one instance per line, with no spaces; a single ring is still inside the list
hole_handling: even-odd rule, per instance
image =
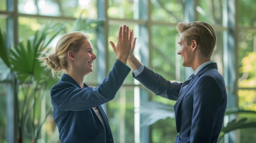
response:
[[[155,93],[167,99],[177,101],[182,83],[166,80],[158,73],[153,72],[146,66],[141,74],[133,75],[141,84]]]

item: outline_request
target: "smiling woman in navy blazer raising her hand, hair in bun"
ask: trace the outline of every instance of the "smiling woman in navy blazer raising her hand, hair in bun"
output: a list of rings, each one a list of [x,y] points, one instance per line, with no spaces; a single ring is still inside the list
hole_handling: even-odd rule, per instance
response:
[[[84,33],[75,31],[63,35],[55,53],[38,58],[42,66],[52,70],[53,76],[65,72],[51,89],[53,116],[61,143],[113,143],[101,104],[115,97],[130,72],[126,62],[132,44],[135,44],[132,31],[126,25],[121,26],[117,46],[113,48],[117,60],[108,77],[96,88],[83,82],[84,76],[93,71],[92,63],[97,58]]]

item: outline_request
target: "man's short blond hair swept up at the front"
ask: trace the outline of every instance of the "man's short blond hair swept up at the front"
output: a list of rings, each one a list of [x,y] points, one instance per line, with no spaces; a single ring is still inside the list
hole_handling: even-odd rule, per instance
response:
[[[210,24],[201,21],[179,22],[176,29],[184,35],[184,41],[188,46],[195,40],[199,44],[200,53],[211,57],[216,44],[216,33]]]

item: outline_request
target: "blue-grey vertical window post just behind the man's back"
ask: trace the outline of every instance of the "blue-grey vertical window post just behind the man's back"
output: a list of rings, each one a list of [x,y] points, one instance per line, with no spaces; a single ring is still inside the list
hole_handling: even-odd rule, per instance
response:
[[[223,64],[224,64],[224,80],[227,87],[228,94],[228,108],[238,108],[237,105],[237,40],[236,40],[236,0],[223,1],[223,26],[229,30],[224,31],[223,35]],[[224,125],[236,119],[235,115],[225,117]],[[225,143],[236,142],[236,131],[231,131],[225,134]]]

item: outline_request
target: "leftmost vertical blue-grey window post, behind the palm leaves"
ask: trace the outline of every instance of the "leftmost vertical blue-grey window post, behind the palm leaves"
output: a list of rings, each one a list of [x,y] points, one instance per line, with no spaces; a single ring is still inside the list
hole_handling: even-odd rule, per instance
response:
[[[6,44],[7,48],[11,48],[14,44],[18,44],[18,0],[6,0],[7,11],[11,13],[7,16],[6,24]],[[16,81],[13,77],[13,73],[8,76],[6,85],[6,141],[7,143],[15,143],[17,137],[17,117],[16,117]]]

